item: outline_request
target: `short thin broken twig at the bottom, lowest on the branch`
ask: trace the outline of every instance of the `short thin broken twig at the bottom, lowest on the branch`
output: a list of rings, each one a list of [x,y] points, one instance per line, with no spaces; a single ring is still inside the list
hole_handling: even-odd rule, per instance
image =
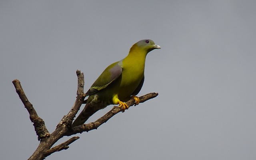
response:
[[[47,150],[46,152],[44,152],[44,157],[49,156],[50,154],[54,153],[54,152],[59,152],[61,150],[66,150],[69,148],[68,145],[70,145],[71,143],[75,142],[76,140],[78,140],[80,137],[72,137],[69,140],[67,140],[66,142],[63,142],[62,144],[59,144],[58,146],[52,147],[50,150]]]

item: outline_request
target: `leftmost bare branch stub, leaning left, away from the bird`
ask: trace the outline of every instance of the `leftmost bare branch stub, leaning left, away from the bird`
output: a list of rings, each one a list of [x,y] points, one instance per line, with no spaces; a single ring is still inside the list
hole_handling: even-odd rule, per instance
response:
[[[28,98],[24,93],[24,90],[22,89],[22,86],[20,84],[20,81],[13,80],[12,83],[14,84],[14,87],[16,88],[16,92],[18,93],[22,103],[24,104],[25,108],[28,110],[29,118],[31,122],[34,123],[33,125],[36,131],[36,135],[38,136],[38,140],[41,140],[42,138],[46,138],[50,136],[50,133],[48,132],[44,124],[44,120],[42,120],[42,118],[40,118],[37,115],[33,105],[28,101]]]

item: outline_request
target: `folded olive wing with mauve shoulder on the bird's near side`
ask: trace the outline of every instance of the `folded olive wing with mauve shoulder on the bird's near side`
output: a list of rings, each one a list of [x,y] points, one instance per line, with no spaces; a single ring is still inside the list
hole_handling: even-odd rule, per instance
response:
[[[108,66],[98,79],[92,84],[90,89],[86,92],[86,96],[90,96],[97,93],[99,90],[106,88],[114,80],[116,80],[122,74],[122,67],[118,65],[118,62]]]

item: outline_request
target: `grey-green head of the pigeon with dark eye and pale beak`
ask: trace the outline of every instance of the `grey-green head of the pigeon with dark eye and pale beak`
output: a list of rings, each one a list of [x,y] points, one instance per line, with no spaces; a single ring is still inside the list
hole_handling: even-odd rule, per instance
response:
[[[154,49],[161,49],[161,47],[156,45],[153,40],[146,39],[146,40],[140,40],[139,42],[135,43],[131,47],[130,52],[136,49],[143,50],[147,54],[148,52]]]

